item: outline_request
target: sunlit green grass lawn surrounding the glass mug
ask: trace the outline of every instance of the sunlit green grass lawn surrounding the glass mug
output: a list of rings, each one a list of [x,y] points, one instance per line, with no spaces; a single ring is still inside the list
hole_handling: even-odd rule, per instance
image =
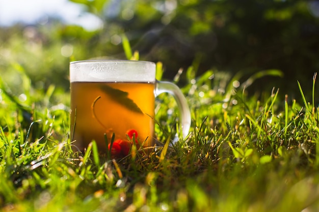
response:
[[[238,87],[236,76],[217,70],[195,78],[194,67],[182,73],[192,112],[189,136],[148,157],[117,161],[99,156],[95,143],[83,155],[73,153],[69,94],[54,86],[35,89],[16,67],[24,95],[4,79],[0,86],[1,210],[317,211],[315,76],[311,103],[296,83],[299,103],[276,89],[248,97],[244,85],[258,76]],[[279,73],[260,77],[267,74]],[[167,113],[176,105],[165,94],[156,104],[155,132],[168,144],[179,129],[178,114]]]

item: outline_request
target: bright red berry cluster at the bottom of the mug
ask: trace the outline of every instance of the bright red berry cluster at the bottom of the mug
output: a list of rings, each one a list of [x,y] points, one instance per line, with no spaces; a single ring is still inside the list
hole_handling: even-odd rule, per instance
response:
[[[126,134],[129,137],[129,140],[117,139],[113,142],[112,149],[111,143],[109,144],[109,151],[111,152],[111,156],[114,158],[122,158],[128,155],[129,150],[132,146],[132,141],[135,140],[136,144],[138,144],[138,132],[134,129],[128,130]]]

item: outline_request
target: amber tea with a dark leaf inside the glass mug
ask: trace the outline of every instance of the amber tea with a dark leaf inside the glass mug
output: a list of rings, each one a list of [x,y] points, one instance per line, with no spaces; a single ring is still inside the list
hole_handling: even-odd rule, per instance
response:
[[[115,141],[127,141],[127,134],[136,132],[131,140],[151,146],[154,101],[154,83],[71,82],[71,139],[80,150],[95,140],[105,153],[104,134],[108,141],[113,133]]]

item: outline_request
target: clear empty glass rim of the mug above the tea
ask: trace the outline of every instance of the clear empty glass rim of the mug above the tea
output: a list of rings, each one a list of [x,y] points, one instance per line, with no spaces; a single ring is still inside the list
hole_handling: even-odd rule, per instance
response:
[[[70,82],[155,83],[156,65],[143,60],[79,60],[70,63]]]

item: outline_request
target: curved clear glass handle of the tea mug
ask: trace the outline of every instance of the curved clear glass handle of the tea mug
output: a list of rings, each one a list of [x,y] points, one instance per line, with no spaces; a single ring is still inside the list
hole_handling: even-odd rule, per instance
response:
[[[187,100],[185,99],[179,87],[174,83],[156,80],[155,97],[162,93],[169,93],[174,97],[180,112],[182,135],[183,138],[185,138],[189,134],[191,127],[191,112],[187,104]],[[173,140],[173,143],[175,143],[177,140],[178,137],[176,136]]]

